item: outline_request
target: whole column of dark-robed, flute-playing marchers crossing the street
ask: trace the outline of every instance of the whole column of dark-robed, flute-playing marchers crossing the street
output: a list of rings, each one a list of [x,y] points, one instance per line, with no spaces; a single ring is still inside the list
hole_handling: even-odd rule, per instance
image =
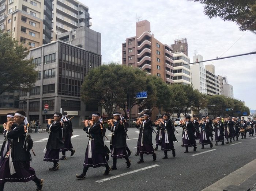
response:
[[[0,191],[4,190],[6,182],[29,182],[30,180],[35,182],[37,191],[42,190],[44,179],[37,178],[34,169],[30,167],[30,151],[33,152],[33,141],[28,135],[29,125],[25,125],[25,118],[26,113],[23,110],[7,114],[3,133],[5,139],[0,152]],[[49,139],[42,160],[53,162],[49,171],[56,171],[60,167],[58,161],[67,159],[65,155],[67,151],[71,151],[71,156],[75,153],[71,143],[72,122],[71,118],[68,118],[67,112],[63,114],[55,112],[53,119],[47,121]],[[129,156],[132,152],[126,142],[129,139],[127,121],[121,113],[114,112],[113,119],[102,121],[100,113],[93,112],[92,119],[83,122],[83,130],[88,134],[89,141],[85,149],[83,171],[81,174],[75,175],[77,179],[86,179],[89,167],[105,167],[103,175],[109,175],[111,171],[117,169],[117,159],[124,158],[126,168],[131,167],[132,163]],[[197,151],[196,140],[199,140],[199,144],[202,145],[201,149],[204,149],[204,146],[208,144],[212,148],[212,141],[214,140],[215,146],[230,144],[232,141],[238,141],[240,136],[241,139],[246,139],[247,132],[249,136],[253,136],[256,130],[256,117],[253,120],[248,118],[246,121],[244,117],[240,119],[228,116],[227,118],[210,119],[209,116],[202,116],[202,119],[199,120],[196,116],[191,118],[190,115],[187,115],[180,122],[183,129],[181,146],[185,147],[184,153],[189,152],[189,147],[193,147],[193,152]],[[157,132],[154,130],[154,126]],[[139,129],[137,152],[135,153],[135,156],[139,156],[138,164],[144,163],[144,154],[152,155],[153,161],[157,160],[155,151],[160,146],[163,151],[162,159],[168,158],[168,151],[172,151],[172,157],[176,156],[173,143],[177,141],[175,136],[177,131],[166,113],[153,122],[150,120],[150,114],[145,112],[137,118],[136,128]],[[105,144],[105,138],[108,139],[105,136],[106,129],[112,133],[110,147]],[[156,133],[155,148],[153,148],[152,142],[153,132]],[[59,156],[60,152],[62,157]],[[108,164],[109,153],[113,159],[111,167]],[[82,164],[82,161],[80,162]]]

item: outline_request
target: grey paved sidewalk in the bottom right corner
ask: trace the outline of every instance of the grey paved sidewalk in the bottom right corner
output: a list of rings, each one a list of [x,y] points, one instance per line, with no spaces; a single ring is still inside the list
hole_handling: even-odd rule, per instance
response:
[[[202,191],[256,191],[256,159],[204,188]]]

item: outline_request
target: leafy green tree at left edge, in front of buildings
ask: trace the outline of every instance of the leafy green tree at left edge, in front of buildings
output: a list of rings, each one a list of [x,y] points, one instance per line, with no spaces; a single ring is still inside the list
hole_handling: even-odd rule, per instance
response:
[[[0,33],[0,94],[6,91],[29,91],[35,84],[38,71],[27,48],[13,40],[9,33]]]

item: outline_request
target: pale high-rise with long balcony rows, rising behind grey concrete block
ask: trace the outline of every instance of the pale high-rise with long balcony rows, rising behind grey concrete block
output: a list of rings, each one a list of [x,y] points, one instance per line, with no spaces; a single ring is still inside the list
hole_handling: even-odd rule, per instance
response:
[[[57,35],[78,27],[90,27],[89,7],[77,0],[53,0],[53,32]]]

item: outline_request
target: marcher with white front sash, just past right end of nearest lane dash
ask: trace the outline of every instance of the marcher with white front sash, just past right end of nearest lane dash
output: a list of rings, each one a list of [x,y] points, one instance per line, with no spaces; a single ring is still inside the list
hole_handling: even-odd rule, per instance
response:
[[[161,130],[163,131],[163,138],[161,144],[161,150],[164,151],[165,156],[162,159],[168,159],[167,151],[172,151],[173,157],[176,156],[173,142],[177,141],[174,135],[174,127],[172,121],[168,119],[167,113],[163,114],[161,121]]]

